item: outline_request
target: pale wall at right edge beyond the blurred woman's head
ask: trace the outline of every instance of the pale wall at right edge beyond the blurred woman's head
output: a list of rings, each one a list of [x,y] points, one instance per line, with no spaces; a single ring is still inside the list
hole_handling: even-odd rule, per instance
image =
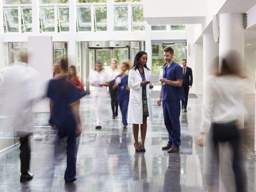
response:
[[[245,94],[255,94],[255,70],[256,70],[256,50],[244,50],[244,67],[248,72],[245,80]]]

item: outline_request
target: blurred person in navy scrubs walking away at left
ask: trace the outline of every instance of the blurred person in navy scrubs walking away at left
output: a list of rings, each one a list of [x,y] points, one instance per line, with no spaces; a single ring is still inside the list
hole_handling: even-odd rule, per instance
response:
[[[77,142],[81,132],[78,107],[81,92],[67,81],[68,66],[64,59],[60,61],[62,73],[50,80],[47,97],[50,100],[51,126],[58,128],[59,138],[67,137],[67,168],[64,179],[66,183],[76,180]]]

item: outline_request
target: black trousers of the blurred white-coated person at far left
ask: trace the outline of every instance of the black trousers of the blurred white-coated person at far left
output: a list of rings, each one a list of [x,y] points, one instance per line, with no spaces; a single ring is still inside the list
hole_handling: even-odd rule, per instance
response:
[[[30,145],[29,136],[31,133],[19,131],[20,135],[20,172],[28,173],[30,165]]]

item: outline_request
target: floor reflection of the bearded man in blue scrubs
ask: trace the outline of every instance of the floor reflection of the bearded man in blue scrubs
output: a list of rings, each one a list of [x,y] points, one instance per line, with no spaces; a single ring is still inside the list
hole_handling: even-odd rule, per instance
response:
[[[169,164],[164,174],[164,190],[163,192],[181,192],[180,186],[180,155],[170,155]]]

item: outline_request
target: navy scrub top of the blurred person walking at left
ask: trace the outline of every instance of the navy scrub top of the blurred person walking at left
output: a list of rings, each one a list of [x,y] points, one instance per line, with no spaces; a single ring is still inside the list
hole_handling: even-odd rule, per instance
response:
[[[49,81],[47,97],[53,100],[53,114],[50,123],[58,128],[75,128],[76,122],[73,118],[70,104],[82,97],[80,90],[67,82],[66,77]]]

